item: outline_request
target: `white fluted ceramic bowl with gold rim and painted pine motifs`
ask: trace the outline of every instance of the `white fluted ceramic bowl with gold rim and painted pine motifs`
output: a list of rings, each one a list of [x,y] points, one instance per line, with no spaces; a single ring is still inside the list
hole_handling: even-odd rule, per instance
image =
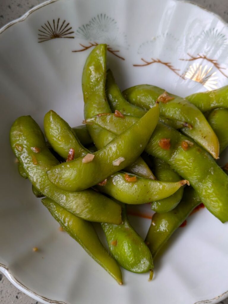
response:
[[[216,303],[228,293],[228,225],[206,209],[188,219],[155,263],[155,278],[123,271],[117,283],[50,216],[17,173],[9,129],[20,115],[42,126],[53,109],[83,119],[81,74],[93,45],[107,43],[122,89],[149,83],[186,96],[228,84],[228,26],[174,0],[60,0],[0,31],[0,269],[41,302]],[[73,52],[77,50],[77,52]],[[227,153],[221,161],[227,161]],[[149,220],[131,217],[144,237]],[[32,247],[39,251],[32,252]]]

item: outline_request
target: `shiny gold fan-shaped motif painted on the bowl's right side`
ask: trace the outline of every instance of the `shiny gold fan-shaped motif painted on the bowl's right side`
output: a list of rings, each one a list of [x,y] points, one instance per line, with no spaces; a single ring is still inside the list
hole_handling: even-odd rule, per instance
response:
[[[217,72],[211,73],[212,68],[213,66],[208,67],[207,64],[203,66],[199,63],[193,63],[193,65],[189,66],[189,70],[184,76],[185,78],[201,83],[207,90],[211,91],[218,88],[218,81],[216,81],[218,76],[215,76]]]

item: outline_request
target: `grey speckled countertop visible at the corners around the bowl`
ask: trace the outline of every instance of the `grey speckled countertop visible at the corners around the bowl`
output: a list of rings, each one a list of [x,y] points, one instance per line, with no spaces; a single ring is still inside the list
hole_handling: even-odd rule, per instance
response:
[[[0,28],[6,23],[19,18],[33,6],[43,0],[0,0]],[[228,22],[228,0],[189,0],[215,12]],[[228,304],[228,299],[220,302]],[[0,272],[0,304],[41,304],[23,294]],[[183,303],[184,304],[184,303]]]

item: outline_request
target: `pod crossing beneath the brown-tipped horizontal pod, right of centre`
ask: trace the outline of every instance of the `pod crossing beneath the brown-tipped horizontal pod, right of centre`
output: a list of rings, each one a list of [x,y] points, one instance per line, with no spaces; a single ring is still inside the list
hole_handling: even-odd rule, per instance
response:
[[[159,158],[154,158],[154,172],[159,181],[177,182],[181,177],[167,164]],[[184,187],[178,189],[174,194],[151,203],[151,209],[158,213],[168,212],[175,208],[182,199]]]

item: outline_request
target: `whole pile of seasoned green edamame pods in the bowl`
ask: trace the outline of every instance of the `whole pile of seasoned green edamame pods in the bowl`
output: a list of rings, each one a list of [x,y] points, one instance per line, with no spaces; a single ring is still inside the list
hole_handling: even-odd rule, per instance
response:
[[[152,278],[158,250],[199,204],[228,220],[228,176],[216,164],[228,145],[228,86],[186,98],[152,85],[121,92],[106,51],[97,45],[84,65],[83,126],[49,111],[45,139],[31,116],[21,116],[10,142],[36,197],[122,285],[120,266]],[[144,203],[155,211],[145,240],[126,211]],[[111,254],[92,222],[101,223]]]

